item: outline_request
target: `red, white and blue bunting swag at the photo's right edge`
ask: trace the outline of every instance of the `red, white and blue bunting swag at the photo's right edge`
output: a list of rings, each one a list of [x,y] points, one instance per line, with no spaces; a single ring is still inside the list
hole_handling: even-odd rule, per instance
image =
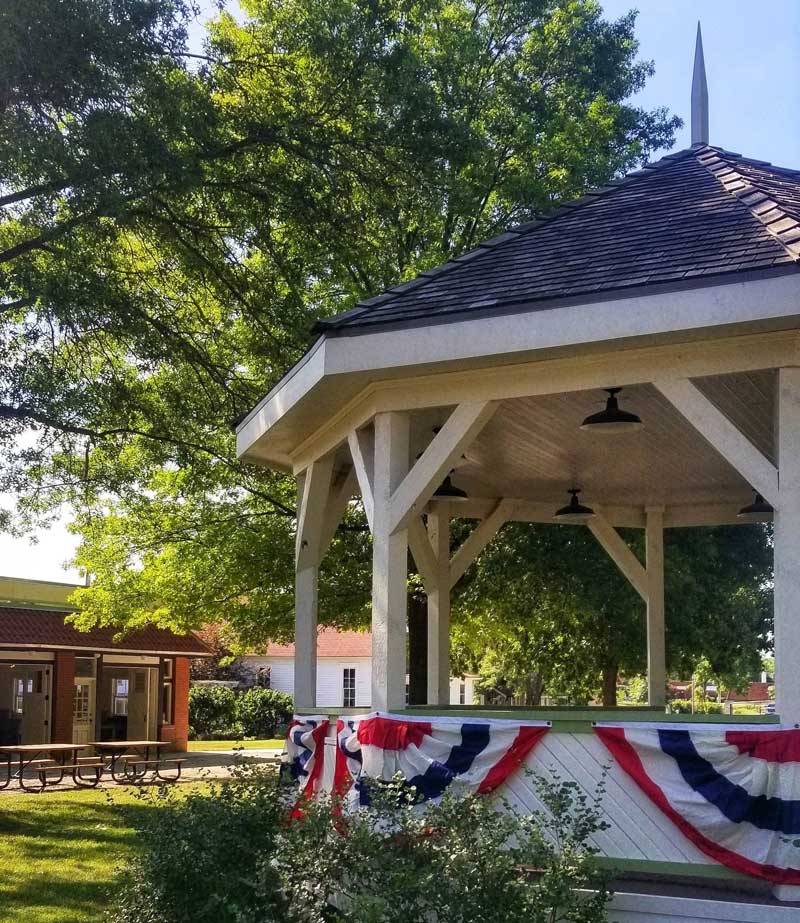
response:
[[[800,731],[598,725],[625,772],[704,853],[800,885]]]

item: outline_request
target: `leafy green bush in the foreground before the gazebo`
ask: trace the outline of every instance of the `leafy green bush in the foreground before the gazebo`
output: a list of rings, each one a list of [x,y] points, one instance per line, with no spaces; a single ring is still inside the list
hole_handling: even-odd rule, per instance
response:
[[[547,814],[499,813],[480,795],[414,805],[398,781],[368,810],[336,817],[323,796],[288,822],[297,789],[255,768],[188,796],[142,792],[161,809],[132,817],[141,851],[109,920],[601,923],[609,894],[586,845],[603,826],[596,803],[574,783],[531,784]]]

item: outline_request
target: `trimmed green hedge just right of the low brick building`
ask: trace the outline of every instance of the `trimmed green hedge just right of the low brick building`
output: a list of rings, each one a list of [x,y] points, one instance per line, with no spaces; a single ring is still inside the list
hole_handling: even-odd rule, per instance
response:
[[[189,728],[193,740],[280,737],[292,718],[292,697],[254,686],[235,692],[227,686],[189,689]]]

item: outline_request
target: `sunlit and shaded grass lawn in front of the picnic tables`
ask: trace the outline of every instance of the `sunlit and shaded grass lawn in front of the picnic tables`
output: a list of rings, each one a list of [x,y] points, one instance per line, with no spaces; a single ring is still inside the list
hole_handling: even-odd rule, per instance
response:
[[[134,836],[104,791],[0,795],[0,921],[99,923]]]

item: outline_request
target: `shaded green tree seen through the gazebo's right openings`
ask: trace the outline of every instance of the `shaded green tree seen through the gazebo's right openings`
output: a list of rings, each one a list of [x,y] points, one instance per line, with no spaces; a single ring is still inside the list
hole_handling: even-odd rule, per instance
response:
[[[640,556],[641,533],[626,530]],[[760,669],[772,628],[772,549],[764,526],[665,533],[667,666],[703,657],[738,688]],[[537,702],[543,692],[616,704],[620,672],[645,672],[646,613],[587,529],[506,526],[455,604],[455,650],[488,688]]]

